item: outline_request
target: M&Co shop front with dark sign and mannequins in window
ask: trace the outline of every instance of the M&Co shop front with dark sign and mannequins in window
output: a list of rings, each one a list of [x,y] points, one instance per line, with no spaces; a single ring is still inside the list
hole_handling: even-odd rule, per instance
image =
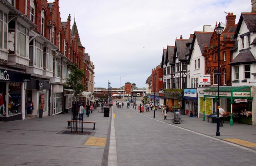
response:
[[[25,118],[24,87],[30,80],[30,74],[0,68],[0,121]]]

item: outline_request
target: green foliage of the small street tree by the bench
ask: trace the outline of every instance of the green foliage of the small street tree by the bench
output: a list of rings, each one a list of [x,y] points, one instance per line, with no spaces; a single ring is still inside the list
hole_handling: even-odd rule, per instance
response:
[[[79,96],[85,90],[86,85],[82,84],[82,79],[84,78],[84,71],[77,67],[77,64],[74,66],[69,66],[71,72],[68,74],[68,79],[66,84],[69,88],[73,90],[75,100],[78,101]]]

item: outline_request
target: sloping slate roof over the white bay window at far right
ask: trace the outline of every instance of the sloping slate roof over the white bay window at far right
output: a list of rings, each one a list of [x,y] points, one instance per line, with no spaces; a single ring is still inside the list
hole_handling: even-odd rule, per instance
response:
[[[250,50],[240,52],[234,59],[229,63],[229,65],[236,64],[248,64],[256,62],[255,57],[252,55]]]

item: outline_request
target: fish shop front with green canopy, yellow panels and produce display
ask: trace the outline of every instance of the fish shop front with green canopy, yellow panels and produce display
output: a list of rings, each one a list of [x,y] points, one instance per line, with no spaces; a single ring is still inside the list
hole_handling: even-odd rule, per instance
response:
[[[205,111],[206,115],[216,112],[217,95],[217,87],[204,90],[202,102],[204,103],[203,111]],[[252,106],[251,86],[221,86],[219,96],[220,107],[225,110],[224,117],[225,120],[230,120],[230,125],[233,125],[233,121],[250,125],[254,124],[252,120],[254,117],[254,107]]]

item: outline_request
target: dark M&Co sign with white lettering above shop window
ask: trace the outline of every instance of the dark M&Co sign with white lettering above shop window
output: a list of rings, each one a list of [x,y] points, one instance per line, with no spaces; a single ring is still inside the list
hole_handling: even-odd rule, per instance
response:
[[[0,81],[6,82],[30,82],[31,75],[12,70],[5,70],[0,68]]]

